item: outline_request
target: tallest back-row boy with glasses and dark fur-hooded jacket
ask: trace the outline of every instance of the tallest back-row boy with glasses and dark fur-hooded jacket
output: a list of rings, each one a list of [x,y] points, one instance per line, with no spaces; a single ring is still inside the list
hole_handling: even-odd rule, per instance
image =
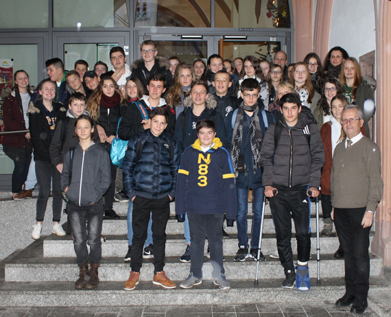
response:
[[[161,73],[166,81],[166,86],[169,88],[172,82],[172,74],[169,71],[169,63],[167,59],[157,56],[158,47],[153,40],[145,40],[141,43],[141,59],[135,60],[132,64],[132,77],[137,78],[143,84],[144,90],[147,90],[147,84],[150,76]]]

